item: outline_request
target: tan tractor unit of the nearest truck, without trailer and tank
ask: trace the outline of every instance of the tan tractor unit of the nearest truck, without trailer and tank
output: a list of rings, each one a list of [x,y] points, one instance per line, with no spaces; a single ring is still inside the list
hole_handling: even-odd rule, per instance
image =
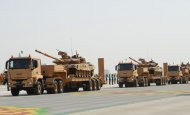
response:
[[[18,96],[21,90],[26,90],[28,95],[40,95],[44,90],[51,94],[63,92],[66,71],[62,66],[41,65],[39,58],[28,56],[11,57],[6,69],[13,96]]]

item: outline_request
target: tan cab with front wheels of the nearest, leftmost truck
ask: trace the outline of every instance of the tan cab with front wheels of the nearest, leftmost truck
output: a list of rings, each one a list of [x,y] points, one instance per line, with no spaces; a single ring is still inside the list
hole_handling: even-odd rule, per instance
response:
[[[39,95],[43,92],[41,61],[32,57],[11,57],[6,62],[8,85],[13,96],[26,90],[27,94]]]

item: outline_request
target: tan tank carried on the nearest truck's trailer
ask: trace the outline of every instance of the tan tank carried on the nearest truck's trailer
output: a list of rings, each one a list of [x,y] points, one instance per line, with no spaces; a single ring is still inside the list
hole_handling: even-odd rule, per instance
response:
[[[92,65],[90,62],[86,62],[86,59],[82,56],[79,56],[78,53],[73,56],[69,56],[66,52],[58,51],[60,58],[56,58],[39,50],[35,51],[44,56],[54,59],[53,63],[57,65],[63,65],[67,70],[68,76],[91,77],[94,74],[94,65]]]

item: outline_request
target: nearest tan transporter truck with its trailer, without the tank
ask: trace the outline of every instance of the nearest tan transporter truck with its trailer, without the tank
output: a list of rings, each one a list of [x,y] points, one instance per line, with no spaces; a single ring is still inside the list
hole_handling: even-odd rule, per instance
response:
[[[60,59],[54,59],[62,62]],[[76,67],[82,68],[85,65],[41,65],[39,58],[11,57],[6,62],[9,89],[13,96],[18,96],[21,90],[26,90],[28,95],[40,95],[44,90],[47,90],[48,94],[62,93],[64,90],[77,91],[80,86],[83,86],[85,91],[100,90],[104,83],[103,58],[99,59],[99,76],[96,78],[88,72],[76,76]],[[88,76],[85,76],[87,73]]]

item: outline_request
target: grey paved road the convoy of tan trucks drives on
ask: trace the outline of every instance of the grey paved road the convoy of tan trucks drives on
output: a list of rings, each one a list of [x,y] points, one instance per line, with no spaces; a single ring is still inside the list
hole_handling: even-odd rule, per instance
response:
[[[64,115],[189,96],[190,84],[138,88],[118,88],[114,85],[104,86],[100,91],[40,96],[28,96],[21,92],[18,97],[5,90],[5,87],[0,87],[0,107],[39,108],[47,111],[48,115]]]

